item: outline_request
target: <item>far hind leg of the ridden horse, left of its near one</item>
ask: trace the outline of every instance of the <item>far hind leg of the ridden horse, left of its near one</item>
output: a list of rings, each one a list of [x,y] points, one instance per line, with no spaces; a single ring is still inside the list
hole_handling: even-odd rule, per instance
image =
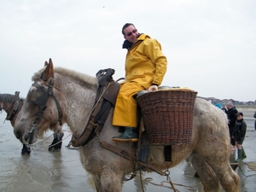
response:
[[[201,183],[203,184],[204,191],[206,192],[219,192],[221,191],[221,186],[217,175],[212,170],[207,161],[195,151],[190,154],[190,161],[195,168],[195,171],[201,178]]]

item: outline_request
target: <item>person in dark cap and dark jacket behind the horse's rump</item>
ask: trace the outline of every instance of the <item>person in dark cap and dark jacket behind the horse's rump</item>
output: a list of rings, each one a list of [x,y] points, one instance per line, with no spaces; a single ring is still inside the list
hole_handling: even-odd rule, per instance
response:
[[[247,132],[247,124],[243,120],[243,113],[239,112],[236,114],[236,126],[233,132],[233,138],[235,139],[236,148],[237,148],[237,159],[236,162],[247,158],[244,149],[242,148],[242,143],[244,141],[245,135]]]

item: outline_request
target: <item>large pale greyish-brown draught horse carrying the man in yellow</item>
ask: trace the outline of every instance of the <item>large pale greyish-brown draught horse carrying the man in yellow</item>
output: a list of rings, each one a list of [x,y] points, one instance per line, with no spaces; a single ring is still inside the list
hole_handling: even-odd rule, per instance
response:
[[[32,87],[15,123],[15,135],[20,142],[35,143],[36,133],[43,134],[49,128],[55,130],[60,117],[70,126],[73,135],[79,137],[94,108],[97,79],[62,67],[54,68],[49,60],[49,64],[46,61],[46,67],[35,73],[32,80]],[[39,112],[42,113],[40,119],[37,118],[38,108],[44,110]],[[118,127],[112,125],[112,116],[113,109],[102,131],[79,147],[81,163],[91,173],[98,192],[121,191],[125,175],[133,172],[135,167],[134,160],[114,154],[99,143],[104,141],[125,153],[136,153],[133,143],[112,141],[112,137],[119,134]],[[205,191],[216,192],[222,188],[227,192],[240,191],[240,178],[229,163],[230,137],[226,115],[206,100],[197,98],[192,129],[191,144],[172,146],[171,162],[165,162],[164,146],[150,146],[148,165],[166,170],[189,156]]]

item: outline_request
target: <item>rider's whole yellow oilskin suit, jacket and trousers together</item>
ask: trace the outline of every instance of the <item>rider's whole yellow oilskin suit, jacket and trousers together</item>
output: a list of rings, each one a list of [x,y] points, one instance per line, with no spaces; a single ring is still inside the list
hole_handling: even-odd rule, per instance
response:
[[[126,55],[125,83],[121,84],[115,103],[113,125],[137,127],[137,102],[133,96],[152,84],[160,85],[166,67],[160,43],[141,34]]]

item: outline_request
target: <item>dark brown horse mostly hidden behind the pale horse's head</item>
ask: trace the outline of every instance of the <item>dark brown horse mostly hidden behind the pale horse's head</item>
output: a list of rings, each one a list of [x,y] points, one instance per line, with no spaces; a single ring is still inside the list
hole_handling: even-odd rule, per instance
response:
[[[0,94],[0,111],[2,109],[7,113],[6,119],[10,121],[11,125],[15,126],[15,121],[18,116],[18,113],[20,113],[20,110],[23,106],[23,98],[20,98],[19,96],[20,92],[16,91],[15,95],[11,94]],[[49,151],[59,151],[61,150],[61,139],[64,136],[64,133],[61,129],[57,129],[54,133],[54,140],[50,144]],[[23,144],[23,148],[21,149],[21,154],[30,154],[31,149],[26,146],[26,144]]]

